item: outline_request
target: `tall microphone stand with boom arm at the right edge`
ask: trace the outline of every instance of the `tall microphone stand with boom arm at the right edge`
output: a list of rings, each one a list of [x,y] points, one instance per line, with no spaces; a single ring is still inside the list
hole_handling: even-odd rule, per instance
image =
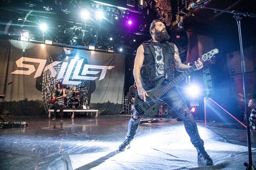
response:
[[[242,74],[243,74],[243,88],[244,88],[244,104],[245,104],[245,115],[246,115],[246,125],[247,125],[247,146],[248,146],[248,156],[249,156],[249,164],[247,162],[244,162],[244,166],[246,166],[246,170],[256,170],[253,166],[252,161],[252,150],[251,150],[251,139],[250,139],[250,122],[249,122],[249,113],[248,111],[248,99],[247,99],[247,90],[246,90],[246,78],[245,78],[245,63],[244,63],[244,52],[243,52],[243,43],[242,43],[242,36],[241,36],[241,16],[244,17],[256,17],[256,14],[249,14],[245,12],[239,12],[239,11],[227,11],[227,10],[221,10],[218,8],[208,8],[205,7],[204,4],[199,6],[201,9],[211,9],[215,13],[218,11],[226,12],[233,14],[233,17],[236,19],[237,26],[238,26],[238,33],[239,33],[239,42],[240,42],[240,51],[241,51],[241,68],[242,68]]]

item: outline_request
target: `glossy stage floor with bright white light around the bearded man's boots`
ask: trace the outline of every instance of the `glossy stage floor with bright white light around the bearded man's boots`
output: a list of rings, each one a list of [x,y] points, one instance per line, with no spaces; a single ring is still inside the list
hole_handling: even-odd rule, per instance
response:
[[[0,129],[0,170],[243,170],[248,162],[246,130],[239,124],[197,122],[214,165],[201,166],[183,122],[140,124],[131,149],[116,151],[130,115],[84,116],[48,120],[47,116],[10,116],[6,122],[29,127]],[[158,118],[159,119],[159,118]],[[167,120],[167,119],[165,119]],[[256,132],[251,132],[256,166]]]

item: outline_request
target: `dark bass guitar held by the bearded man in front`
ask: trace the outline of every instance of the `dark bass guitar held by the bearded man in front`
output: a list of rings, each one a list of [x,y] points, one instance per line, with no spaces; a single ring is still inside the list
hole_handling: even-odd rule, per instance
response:
[[[215,48],[212,51],[207,52],[202,55],[201,62],[205,62],[210,60],[215,54],[218,54],[218,49]],[[181,80],[183,80],[186,76],[188,76],[192,71],[195,71],[195,65],[192,65],[190,68],[186,69],[182,74],[169,82],[166,86],[161,88],[161,84],[163,83],[165,78],[160,79],[157,82],[155,88],[152,88],[149,91],[146,91],[148,96],[146,96],[146,101],[140,99],[138,94],[134,98],[134,108],[136,111],[142,115],[143,117],[152,117],[157,112],[157,109],[160,105],[164,105],[165,102],[160,100],[164,94],[169,92],[175,85],[177,85]]]

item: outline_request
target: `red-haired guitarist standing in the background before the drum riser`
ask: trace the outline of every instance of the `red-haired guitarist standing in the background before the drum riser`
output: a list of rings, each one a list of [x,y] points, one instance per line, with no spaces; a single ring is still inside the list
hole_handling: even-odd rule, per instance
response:
[[[60,96],[66,96],[65,94],[65,89],[63,88],[63,84],[62,82],[58,82],[58,84],[56,85],[57,89],[55,91],[55,93],[52,94],[52,96],[54,98],[60,97]],[[54,117],[52,118],[52,120],[55,120],[57,117],[57,110],[59,109],[61,112],[61,122],[63,122],[63,109],[64,109],[64,99],[63,97],[60,97],[56,100],[56,102],[54,103]]]

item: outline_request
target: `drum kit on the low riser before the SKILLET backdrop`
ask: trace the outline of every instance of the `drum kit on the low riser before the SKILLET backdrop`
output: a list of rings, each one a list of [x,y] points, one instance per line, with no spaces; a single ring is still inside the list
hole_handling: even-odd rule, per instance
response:
[[[72,91],[69,86],[64,86],[66,97],[64,97],[64,105],[66,108],[78,109],[84,108],[88,109],[88,87],[81,86],[78,91]]]

